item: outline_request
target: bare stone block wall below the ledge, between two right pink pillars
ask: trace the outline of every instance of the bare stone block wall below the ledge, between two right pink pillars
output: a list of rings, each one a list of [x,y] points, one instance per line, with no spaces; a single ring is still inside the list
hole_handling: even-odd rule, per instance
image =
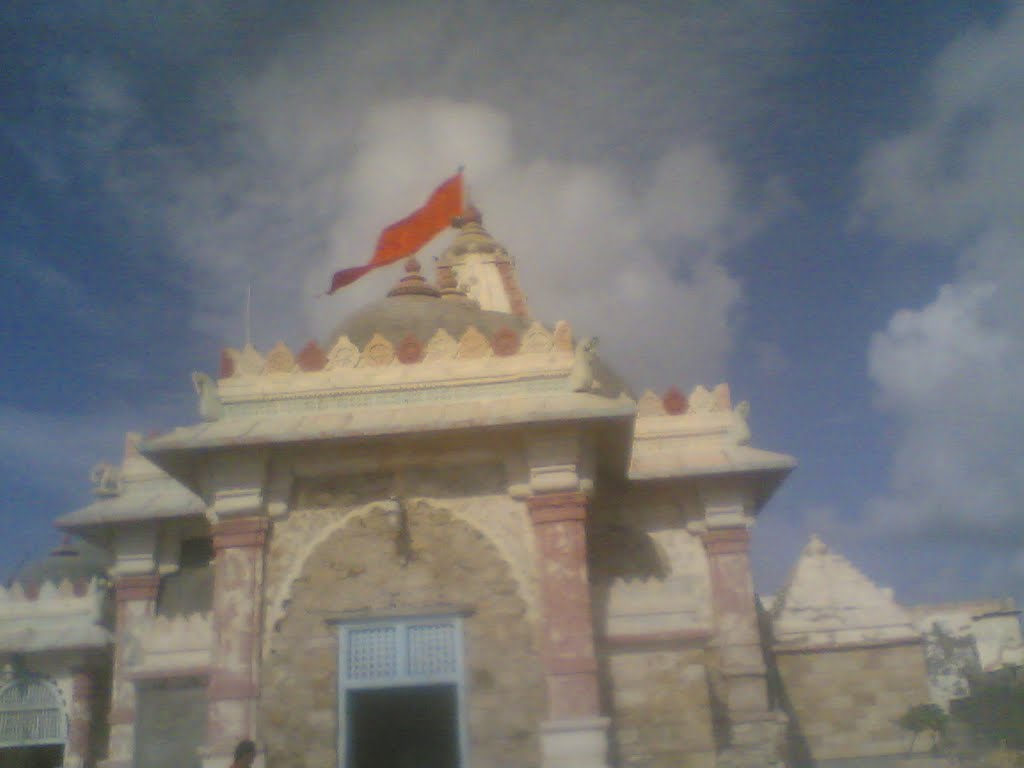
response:
[[[710,768],[715,738],[700,649],[618,650],[607,657],[613,744],[623,768]]]

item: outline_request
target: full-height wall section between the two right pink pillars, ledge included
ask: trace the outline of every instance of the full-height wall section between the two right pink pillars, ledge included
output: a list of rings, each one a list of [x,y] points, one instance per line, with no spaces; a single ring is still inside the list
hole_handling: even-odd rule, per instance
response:
[[[612,749],[623,768],[715,765],[708,556],[678,489],[599,497],[590,562]],[[684,645],[685,643],[685,645]]]

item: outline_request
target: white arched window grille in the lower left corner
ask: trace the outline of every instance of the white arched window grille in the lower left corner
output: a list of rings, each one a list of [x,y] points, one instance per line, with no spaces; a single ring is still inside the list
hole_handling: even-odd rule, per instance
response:
[[[67,734],[63,705],[52,684],[23,678],[0,689],[0,746],[62,744]]]

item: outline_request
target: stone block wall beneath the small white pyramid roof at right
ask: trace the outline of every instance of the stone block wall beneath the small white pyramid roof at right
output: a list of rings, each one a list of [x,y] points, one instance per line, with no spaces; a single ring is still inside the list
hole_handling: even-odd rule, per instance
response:
[[[776,653],[795,731],[815,760],[899,755],[909,735],[896,720],[927,703],[921,643]],[[918,739],[927,749],[928,739]]]

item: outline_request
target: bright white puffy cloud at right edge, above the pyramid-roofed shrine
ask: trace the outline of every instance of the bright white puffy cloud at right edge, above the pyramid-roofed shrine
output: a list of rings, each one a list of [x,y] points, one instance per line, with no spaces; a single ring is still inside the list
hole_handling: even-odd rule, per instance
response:
[[[931,304],[900,310],[871,341],[880,404],[902,427],[891,494],[874,506],[884,528],[1006,544],[1024,536],[1020,246],[988,236]]]

